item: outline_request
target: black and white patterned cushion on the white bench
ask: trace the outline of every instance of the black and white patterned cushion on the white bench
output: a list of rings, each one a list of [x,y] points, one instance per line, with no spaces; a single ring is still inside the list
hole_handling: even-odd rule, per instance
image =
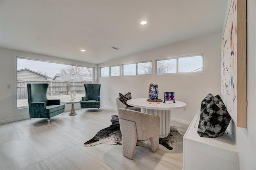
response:
[[[211,98],[211,100],[210,100]],[[205,106],[204,108],[202,108]],[[201,104],[197,133],[200,137],[218,137],[225,133],[231,117],[219,95],[206,96]]]

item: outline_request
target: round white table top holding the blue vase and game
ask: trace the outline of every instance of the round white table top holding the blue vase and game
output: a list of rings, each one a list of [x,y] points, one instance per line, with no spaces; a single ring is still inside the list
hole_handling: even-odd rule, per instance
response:
[[[164,100],[163,100],[164,101]],[[139,99],[130,99],[127,100],[127,104],[134,107],[140,107],[144,109],[157,109],[157,110],[172,110],[172,109],[181,109],[186,107],[186,103],[175,100],[176,103],[173,103],[172,100],[163,102],[147,102],[146,98]]]

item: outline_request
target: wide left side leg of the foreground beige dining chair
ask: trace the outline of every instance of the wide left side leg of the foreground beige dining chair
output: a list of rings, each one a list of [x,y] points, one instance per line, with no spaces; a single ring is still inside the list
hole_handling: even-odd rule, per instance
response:
[[[128,121],[124,119],[121,119],[121,122],[123,155],[132,159],[137,143],[136,124],[134,121]]]

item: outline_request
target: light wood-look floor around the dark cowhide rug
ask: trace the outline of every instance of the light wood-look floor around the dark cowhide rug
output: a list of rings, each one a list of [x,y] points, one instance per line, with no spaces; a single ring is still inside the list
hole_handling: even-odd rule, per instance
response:
[[[29,119],[0,125],[0,170],[181,170],[182,141],[173,150],[159,145],[156,152],[136,147],[134,159],[122,155],[122,146],[84,143],[112,123],[116,111],[104,107],[76,110],[77,115],[57,115],[47,119]],[[184,134],[188,125],[179,125]]]

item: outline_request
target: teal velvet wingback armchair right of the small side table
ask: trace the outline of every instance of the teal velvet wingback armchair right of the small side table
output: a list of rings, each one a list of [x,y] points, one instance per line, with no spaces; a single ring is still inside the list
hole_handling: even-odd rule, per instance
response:
[[[81,109],[100,108],[100,84],[84,84],[85,95],[81,100]]]

